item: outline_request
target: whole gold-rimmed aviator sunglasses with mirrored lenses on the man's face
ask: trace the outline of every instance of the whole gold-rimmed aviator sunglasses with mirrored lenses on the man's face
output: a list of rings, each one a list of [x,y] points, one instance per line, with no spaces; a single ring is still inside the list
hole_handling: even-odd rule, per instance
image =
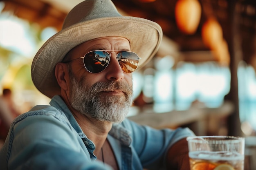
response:
[[[125,73],[132,73],[139,66],[139,59],[141,58],[132,51],[94,50],[80,58],[83,58],[83,65],[87,71],[90,73],[100,73],[107,68],[111,53],[116,53],[119,65]]]

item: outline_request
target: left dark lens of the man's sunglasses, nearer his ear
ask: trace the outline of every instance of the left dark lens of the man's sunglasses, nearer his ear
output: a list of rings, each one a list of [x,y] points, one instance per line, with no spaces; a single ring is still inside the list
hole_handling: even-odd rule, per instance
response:
[[[89,72],[99,73],[108,66],[109,57],[105,51],[91,51],[85,54],[83,64]]]

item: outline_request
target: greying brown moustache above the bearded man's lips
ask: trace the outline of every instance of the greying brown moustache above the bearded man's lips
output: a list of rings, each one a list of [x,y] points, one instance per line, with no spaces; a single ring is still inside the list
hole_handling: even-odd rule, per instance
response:
[[[110,92],[110,91],[122,91],[127,95],[132,94],[132,86],[125,82],[97,82],[94,83],[89,89],[90,93]]]

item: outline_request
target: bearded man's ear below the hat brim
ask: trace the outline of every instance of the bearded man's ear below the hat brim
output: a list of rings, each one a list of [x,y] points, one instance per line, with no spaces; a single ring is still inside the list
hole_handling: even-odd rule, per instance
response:
[[[57,79],[58,85],[63,89],[67,90],[67,78],[68,78],[68,70],[67,65],[65,63],[57,63],[55,66],[55,77]]]

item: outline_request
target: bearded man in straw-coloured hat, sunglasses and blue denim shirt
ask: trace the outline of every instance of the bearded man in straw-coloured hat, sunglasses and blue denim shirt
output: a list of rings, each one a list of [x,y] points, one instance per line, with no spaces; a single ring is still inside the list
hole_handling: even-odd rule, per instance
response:
[[[31,75],[51,106],[11,125],[2,170],[188,170],[189,129],[155,130],[125,119],[132,72],[156,53],[162,29],[86,0],[34,57]]]

